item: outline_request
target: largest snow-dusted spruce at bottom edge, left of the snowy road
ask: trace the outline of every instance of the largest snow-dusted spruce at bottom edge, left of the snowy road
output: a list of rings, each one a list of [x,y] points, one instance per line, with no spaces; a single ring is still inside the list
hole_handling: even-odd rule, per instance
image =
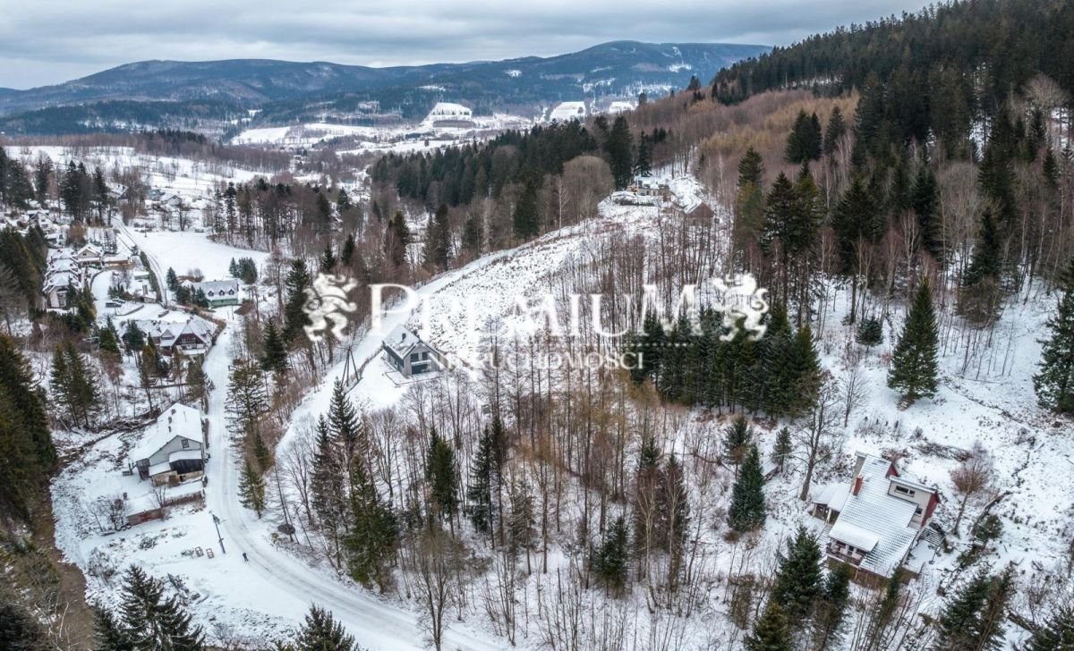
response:
[[[205,635],[190,624],[175,597],[164,598],[164,586],[131,565],[124,577],[119,626],[135,651],[202,651]]]

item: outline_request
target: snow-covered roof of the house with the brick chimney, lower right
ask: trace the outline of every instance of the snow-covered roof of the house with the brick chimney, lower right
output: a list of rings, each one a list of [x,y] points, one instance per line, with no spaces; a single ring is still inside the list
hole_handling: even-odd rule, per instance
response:
[[[872,455],[859,457],[861,488],[857,494],[851,491],[846,497],[828,537],[867,549],[859,567],[891,576],[917,537],[918,530],[910,526],[917,505],[888,493],[890,461]]]

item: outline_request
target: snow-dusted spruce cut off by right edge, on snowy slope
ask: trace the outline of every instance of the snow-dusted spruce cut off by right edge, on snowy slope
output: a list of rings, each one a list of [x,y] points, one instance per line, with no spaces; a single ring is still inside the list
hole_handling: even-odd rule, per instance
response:
[[[1042,406],[1070,414],[1074,413],[1074,258],[1062,284],[1059,308],[1047,322],[1051,337],[1043,342],[1033,388]]]

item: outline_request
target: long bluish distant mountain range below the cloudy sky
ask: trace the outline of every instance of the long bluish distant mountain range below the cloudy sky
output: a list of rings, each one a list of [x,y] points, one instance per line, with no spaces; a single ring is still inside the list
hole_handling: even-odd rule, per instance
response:
[[[56,133],[307,115],[415,117],[437,101],[478,113],[565,100],[634,97],[708,82],[721,69],[771,48],[721,43],[616,41],[555,57],[393,68],[265,59],[140,61],[29,90],[0,89],[0,129]],[[176,104],[183,105],[177,106]],[[206,122],[207,121],[207,122]],[[186,124],[185,127],[189,127]]]

